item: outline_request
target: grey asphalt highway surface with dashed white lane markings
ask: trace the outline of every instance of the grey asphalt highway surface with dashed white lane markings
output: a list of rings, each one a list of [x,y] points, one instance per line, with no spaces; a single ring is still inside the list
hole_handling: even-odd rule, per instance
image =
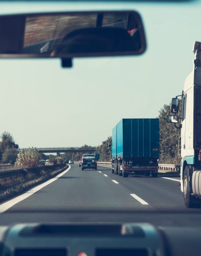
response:
[[[72,164],[60,177],[26,192],[25,199],[21,195],[1,204],[0,223],[25,221],[19,212],[190,210],[183,203],[178,182],[177,176],[152,178],[131,174],[123,178],[112,174],[110,167],[98,166],[98,170],[82,171],[77,164]],[[8,214],[3,218],[5,213],[11,214],[12,218],[9,219]]]

